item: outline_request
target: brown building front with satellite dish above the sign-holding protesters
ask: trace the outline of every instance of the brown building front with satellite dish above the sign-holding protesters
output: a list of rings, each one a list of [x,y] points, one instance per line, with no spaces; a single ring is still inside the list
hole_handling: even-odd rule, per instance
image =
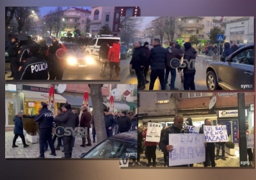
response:
[[[225,124],[230,140],[238,143],[238,107],[237,93],[140,93],[139,114],[142,116],[140,124],[147,121],[162,123],[163,126],[173,123],[176,113],[193,119],[195,126],[202,126],[204,120],[209,118],[212,125]],[[148,97],[151,98],[148,98]],[[216,103],[209,109],[211,98],[216,96]],[[249,130],[254,123],[254,94],[244,93],[245,118]]]

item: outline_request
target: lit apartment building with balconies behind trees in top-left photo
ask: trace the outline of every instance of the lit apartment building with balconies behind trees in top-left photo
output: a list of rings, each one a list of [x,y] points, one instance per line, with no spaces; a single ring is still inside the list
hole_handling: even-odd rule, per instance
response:
[[[52,13],[44,16],[44,22],[41,24],[45,24],[45,33],[49,31],[49,27],[47,27],[47,20],[52,17],[56,18],[59,22],[60,31],[56,32],[56,28],[52,28],[52,36],[57,36],[56,33],[61,34],[61,36],[66,36],[67,32],[74,33],[76,29],[79,29],[81,34],[84,36],[89,34],[90,31],[90,18],[91,11],[84,10],[83,8],[67,8],[66,10],[59,11],[56,13]],[[59,35],[60,36],[60,35]]]

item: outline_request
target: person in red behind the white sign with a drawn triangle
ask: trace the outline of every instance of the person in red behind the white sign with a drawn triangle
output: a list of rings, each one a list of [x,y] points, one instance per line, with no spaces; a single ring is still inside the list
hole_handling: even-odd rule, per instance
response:
[[[148,123],[151,123],[152,121],[148,121]],[[147,126],[148,126],[147,123]],[[147,141],[147,130],[146,128],[142,134],[142,137],[145,138],[144,146],[146,146],[147,151],[147,158],[148,158],[148,164],[147,167],[151,166],[151,160],[153,160],[153,167],[156,167],[156,147],[158,145],[158,142],[149,142]]]

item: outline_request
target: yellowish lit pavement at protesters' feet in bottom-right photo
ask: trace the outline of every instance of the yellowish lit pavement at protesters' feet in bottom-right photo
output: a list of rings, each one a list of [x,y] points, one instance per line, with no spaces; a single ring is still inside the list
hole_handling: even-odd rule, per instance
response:
[[[220,155],[221,155],[221,151],[220,151]],[[159,148],[157,147],[157,150],[156,150],[156,167],[164,167],[164,158],[163,158],[163,152],[159,151]],[[145,157],[144,154],[141,154],[141,165],[135,165],[134,167],[132,167],[132,160],[129,160],[129,167],[132,167],[132,168],[140,168],[140,167],[143,167],[143,168],[147,168],[147,159],[143,159]],[[216,167],[239,167],[240,164],[239,164],[239,152],[237,152],[236,150],[236,156],[230,156],[229,154],[225,153],[225,158],[226,158],[226,161],[225,160],[216,160],[215,163],[216,163]],[[253,164],[254,165],[254,164]],[[193,167],[204,167],[204,163],[195,163]],[[152,168],[152,166],[151,166]],[[168,168],[168,167],[166,167]],[[170,167],[169,167],[170,168]]]

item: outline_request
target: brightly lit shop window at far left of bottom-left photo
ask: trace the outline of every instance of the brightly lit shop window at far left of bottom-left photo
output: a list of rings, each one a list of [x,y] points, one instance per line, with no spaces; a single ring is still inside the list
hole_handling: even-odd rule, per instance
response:
[[[13,126],[13,117],[20,112],[20,97],[15,84],[5,84],[5,126]]]

